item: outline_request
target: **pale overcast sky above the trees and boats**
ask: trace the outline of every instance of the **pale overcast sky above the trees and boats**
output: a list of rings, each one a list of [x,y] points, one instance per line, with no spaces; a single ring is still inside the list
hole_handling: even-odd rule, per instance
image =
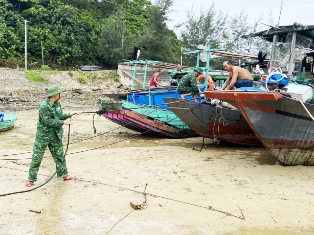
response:
[[[228,12],[231,16],[244,9],[248,15],[247,23],[249,24],[254,24],[262,15],[264,19],[261,22],[267,24],[267,16],[272,11],[274,23],[278,24],[281,0],[175,0],[176,12],[169,15],[173,21],[168,22],[168,27],[173,29],[174,25],[183,23],[186,20],[186,9],[191,9],[192,5],[194,12],[197,12],[201,9],[207,10],[213,2],[215,2],[217,12],[221,10],[223,13]],[[291,25],[294,22],[313,25],[313,15],[314,0],[284,0],[279,25]],[[268,29],[268,27],[264,26],[263,29]],[[175,30],[178,37],[181,35],[181,30],[182,28]]]

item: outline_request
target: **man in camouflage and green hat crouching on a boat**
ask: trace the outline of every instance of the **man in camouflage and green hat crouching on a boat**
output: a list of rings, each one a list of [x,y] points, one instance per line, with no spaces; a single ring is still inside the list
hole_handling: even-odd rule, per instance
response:
[[[180,79],[177,91],[181,94],[181,99],[185,99],[187,95],[192,95],[192,98],[194,99],[196,95],[201,94],[196,85],[196,78],[203,74],[203,69],[201,67],[195,67],[193,69],[194,72],[190,72]]]

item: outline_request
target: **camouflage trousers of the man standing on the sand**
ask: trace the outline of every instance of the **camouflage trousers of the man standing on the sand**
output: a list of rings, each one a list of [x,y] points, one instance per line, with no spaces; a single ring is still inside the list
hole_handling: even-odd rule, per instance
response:
[[[34,153],[32,156],[32,163],[30,164],[30,172],[28,177],[30,181],[37,180],[36,176],[47,146],[51,152],[53,160],[56,163],[56,168],[58,168],[62,163],[64,155],[63,144],[57,136],[55,136],[53,140],[43,140],[35,138]],[[66,176],[68,176],[68,169],[64,159],[64,162],[61,164],[60,169],[57,171],[57,177],[63,178]]]

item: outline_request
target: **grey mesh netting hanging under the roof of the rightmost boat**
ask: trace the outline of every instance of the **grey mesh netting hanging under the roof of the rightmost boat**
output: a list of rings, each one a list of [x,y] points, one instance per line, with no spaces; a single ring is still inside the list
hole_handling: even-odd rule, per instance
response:
[[[275,66],[287,71],[291,54],[292,33],[288,33],[285,43],[276,51]],[[296,34],[295,39],[295,56],[293,61],[293,72],[302,72],[302,60],[307,52],[307,48],[312,44],[312,39],[306,36]],[[277,49],[278,50],[278,49]]]

